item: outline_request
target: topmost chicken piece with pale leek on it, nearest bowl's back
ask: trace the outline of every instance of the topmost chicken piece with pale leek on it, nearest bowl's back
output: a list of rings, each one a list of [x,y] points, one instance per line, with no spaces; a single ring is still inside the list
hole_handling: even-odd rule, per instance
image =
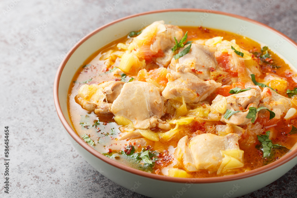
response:
[[[128,50],[132,50],[138,58],[146,61],[154,58],[159,66],[167,67],[173,57],[171,48],[175,45],[174,37],[178,41],[183,37],[181,28],[155,21],[133,38]]]

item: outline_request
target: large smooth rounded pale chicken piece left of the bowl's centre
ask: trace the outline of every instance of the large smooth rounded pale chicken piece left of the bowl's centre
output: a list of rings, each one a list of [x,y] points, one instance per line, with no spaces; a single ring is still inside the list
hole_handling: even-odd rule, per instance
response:
[[[147,129],[151,117],[161,118],[165,114],[164,98],[152,83],[132,81],[124,84],[111,112],[132,121],[135,129]]]

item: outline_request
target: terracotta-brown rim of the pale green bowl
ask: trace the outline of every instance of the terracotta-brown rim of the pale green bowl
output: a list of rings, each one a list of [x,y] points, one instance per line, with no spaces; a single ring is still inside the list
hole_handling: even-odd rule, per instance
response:
[[[243,173],[238,173],[238,174],[234,174],[234,175],[228,175],[228,176],[221,176],[221,177],[210,177],[210,178],[174,178],[174,177],[168,177],[168,176],[163,176],[163,175],[156,175],[156,174],[152,174],[152,173],[148,173],[148,172],[144,172],[141,170],[137,170],[134,169],[132,167],[128,167],[124,164],[121,164],[117,161],[114,161],[104,155],[102,155],[101,153],[99,153],[98,151],[96,151],[94,148],[92,148],[91,146],[89,146],[86,142],[84,142],[79,136],[78,134],[75,133],[75,131],[72,129],[72,127],[68,124],[68,122],[66,121],[66,118],[64,117],[64,114],[61,110],[61,106],[60,106],[60,102],[59,102],[59,81],[60,81],[60,77],[61,77],[61,73],[65,67],[65,65],[67,64],[67,61],[69,60],[69,58],[71,57],[71,55],[75,52],[75,50],[82,45],[83,42],[85,42],[87,39],[89,39],[90,37],[92,37],[94,34],[97,34],[99,31],[114,25],[118,22],[121,22],[123,20],[129,19],[129,18],[135,18],[138,16],[142,16],[142,15],[149,15],[149,14],[154,14],[154,13],[160,13],[160,12],[207,12],[207,13],[212,13],[212,14],[219,14],[219,15],[225,15],[225,16],[230,16],[233,18],[238,18],[240,20],[244,20],[250,23],[254,23],[258,26],[261,26],[263,28],[266,28],[272,32],[274,32],[275,34],[278,34],[280,37],[284,38],[285,40],[287,40],[287,42],[289,42],[291,45],[293,45],[294,47],[297,48],[297,43],[295,41],[293,41],[293,39],[290,39],[289,37],[287,37],[285,34],[277,31],[274,28],[271,28],[270,26],[267,26],[263,23],[260,23],[256,20],[252,20],[240,15],[235,15],[235,14],[230,14],[230,13],[226,13],[226,12],[221,12],[221,11],[215,11],[215,10],[210,10],[210,9],[192,9],[192,8],[178,8],[178,9],[162,9],[162,10],[154,10],[154,11],[148,11],[148,12],[141,12],[138,14],[134,14],[134,15],[129,15],[117,20],[114,20],[110,23],[107,23],[97,29],[95,29],[94,31],[91,31],[89,34],[87,34],[85,37],[83,37],[82,39],[80,39],[80,41],[78,41],[70,50],[69,52],[66,54],[66,56],[64,57],[64,59],[61,61],[61,64],[58,68],[58,71],[56,73],[56,77],[55,77],[55,81],[54,81],[54,87],[53,87],[53,95],[54,95],[54,102],[55,102],[55,107],[56,107],[56,111],[58,114],[58,117],[62,123],[62,125],[64,126],[64,128],[66,129],[66,131],[68,132],[68,134],[72,137],[73,140],[75,140],[80,146],[82,146],[85,150],[87,150],[89,153],[91,153],[93,156],[99,158],[100,160],[116,167],[119,168],[121,170],[130,172],[132,174],[135,175],[139,175],[139,176],[143,176],[146,178],[151,178],[151,179],[156,179],[156,180],[162,180],[162,181],[169,181],[169,182],[175,182],[175,183],[187,183],[189,182],[189,180],[191,181],[191,183],[218,183],[218,182],[226,182],[226,181],[234,181],[234,180],[239,180],[239,179],[244,179],[244,178],[248,178],[248,177],[252,177],[255,175],[259,175],[262,174],[264,172],[268,172],[274,168],[277,168],[283,164],[285,164],[286,162],[294,159],[297,156],[297,149],[294,151],[290,151],[289,153],[287,153],[285,156],[281,157],[280,159],[278,159],[277,161],[274,161],[266,166],[254,169],[254,170],[250,170],[247,172],[243,172]]]

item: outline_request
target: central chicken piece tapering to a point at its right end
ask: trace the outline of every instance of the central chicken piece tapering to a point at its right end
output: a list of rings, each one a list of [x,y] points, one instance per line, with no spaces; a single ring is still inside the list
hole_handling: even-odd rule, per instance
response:
[[[165,99],[184,96],[186,103],[203,101],[222,85],[214,80],[203,81],[194,74],[184,72],[168,73],[166,78],[168,83],[162,91]]]

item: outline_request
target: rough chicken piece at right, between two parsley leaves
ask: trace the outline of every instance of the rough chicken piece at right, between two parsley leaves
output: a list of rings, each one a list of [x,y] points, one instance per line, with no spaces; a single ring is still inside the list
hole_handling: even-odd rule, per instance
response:
[[[252,118],[246,118],[249,113],[249,107],[257,108],[260,103],[260,92],[255,89],[250,89],[239,94],[233,94],[231,96],[225,97],[227,100],[227,109],[231,111],[242,111],[235,113],[230,116],[230,118],[225,119],[222,115],[221,121],[233,125],[246,125],[250,123]],[[257,119],[256,114],[256,119]]]

